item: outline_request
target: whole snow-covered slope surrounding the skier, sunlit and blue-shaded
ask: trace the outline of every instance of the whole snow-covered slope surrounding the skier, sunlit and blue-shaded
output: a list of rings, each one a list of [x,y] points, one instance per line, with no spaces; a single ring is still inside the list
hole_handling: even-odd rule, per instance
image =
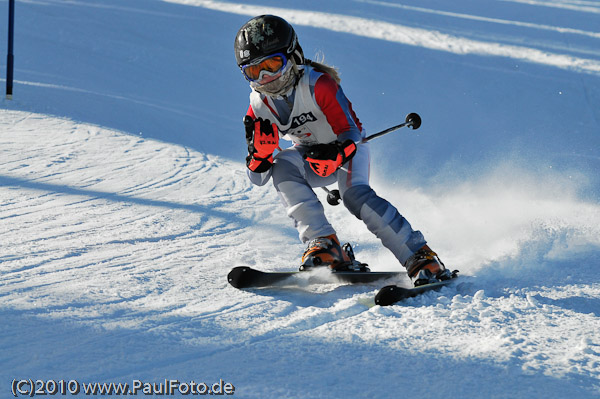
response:
[[[232,47],[262,13],[340,67],[369,133],[421,115],[372,143],[372,185],[455,284],[386,308],[376,284],[227,284],[304,249],[245,175]],[[600,397],[598,2],[29,0],[16,17],[0,396],[15,379],[177,379],[240,398]],[[399,269],[327,213],[359,259]]]

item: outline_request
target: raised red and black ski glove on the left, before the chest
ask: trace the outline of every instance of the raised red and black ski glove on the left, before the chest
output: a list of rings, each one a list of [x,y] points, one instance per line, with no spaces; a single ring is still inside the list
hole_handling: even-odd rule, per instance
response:
[[[273,165],[273,153],[279,147],[277,125],[268,119],[244,117],[248,156],[246,166],[253,172],[266,172]]]

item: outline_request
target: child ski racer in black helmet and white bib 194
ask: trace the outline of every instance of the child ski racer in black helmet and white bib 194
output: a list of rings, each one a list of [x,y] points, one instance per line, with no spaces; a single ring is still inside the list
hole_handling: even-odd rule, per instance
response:
[[[342,91],[336,69],[304,58],[292,26],[273,15],[252,18],[238,31],[235,57],[250,83],[244,117],[248,176],[269,179],[307,244],[301,270],[348,267],[313,188],[337,182],[346,208],[406,267],[415,285],[450,278],[419,231],[369,186],[369,145]],[[277,155],[279,138],[294,145]]]

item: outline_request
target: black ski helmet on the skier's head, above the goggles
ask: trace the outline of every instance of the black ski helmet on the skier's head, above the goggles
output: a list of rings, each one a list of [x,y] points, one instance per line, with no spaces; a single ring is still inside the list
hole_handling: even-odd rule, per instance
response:
[[[235,36],[233,45],[238,66],[257,58],[283,53],[296,64],[304,63],[304,54],[292,25],[275,15],[259,15],[246,22]]]

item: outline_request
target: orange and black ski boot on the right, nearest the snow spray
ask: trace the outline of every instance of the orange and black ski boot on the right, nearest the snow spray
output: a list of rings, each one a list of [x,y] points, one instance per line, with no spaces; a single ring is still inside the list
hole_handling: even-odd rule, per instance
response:
[[[408,258],[404,266],[415,287],[452,278],[452,272],[446,269],[437,254],[427,245]]]

